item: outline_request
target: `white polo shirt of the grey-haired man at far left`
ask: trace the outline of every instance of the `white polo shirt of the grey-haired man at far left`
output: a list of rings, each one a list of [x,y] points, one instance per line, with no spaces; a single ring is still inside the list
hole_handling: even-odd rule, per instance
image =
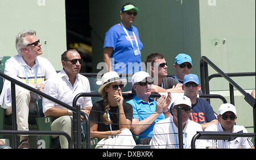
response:
[[[4,74],[34,88],[34,83],[45,83],[50,77],[55,77],[57,73],[51,62],[44,57],[36,57],[35,65],[31,68],[26,64],[22,56],[17,54],[5,62]],[[15,85],[16,90],[19,88],[20,86]],[[31,92],[31,98],[37,99],[39,96],[34,94],[34,92]],[[2,108],[9,108],[11,106],[10,81],[5,81],[3,83],[0,104]]]

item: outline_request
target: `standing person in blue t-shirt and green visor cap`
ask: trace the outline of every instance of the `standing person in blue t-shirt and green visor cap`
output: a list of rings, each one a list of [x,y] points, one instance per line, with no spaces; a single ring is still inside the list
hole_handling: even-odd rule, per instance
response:
[[[133,74],[142,70],[143,44],[137,28],[131,25],[138,12],[138,8],[132,3],[123,4],[119,12],[121,23],[115,24],[106,32],[103,55],[108,71]]]

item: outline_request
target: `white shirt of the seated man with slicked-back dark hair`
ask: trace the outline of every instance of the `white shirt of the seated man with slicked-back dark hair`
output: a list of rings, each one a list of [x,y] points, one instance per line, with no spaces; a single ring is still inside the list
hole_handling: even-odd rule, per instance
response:
[[[64,70],[57,73],[56,77],[49,79],[44,85],[44,93],[56,98],[64,103],[72,106],[73,99],[81,92],[90,92],[90,84],[88,78],[84,75],[77,74],[76,81],[72,86],[69,82],[68,75]],[[92,99],[89,96],[80,97],[77,100],[77,105],[81,106],[81,109],[92,106]],[[52,102],[46,98],[43,98],[43,112],[46,112],[51,107],[59,107],[59,104]]]

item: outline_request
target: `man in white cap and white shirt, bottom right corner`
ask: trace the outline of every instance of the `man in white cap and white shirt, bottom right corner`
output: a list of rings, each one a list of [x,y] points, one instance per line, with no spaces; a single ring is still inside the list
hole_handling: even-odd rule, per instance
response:
[[[242,125],[235,125],[237,121],[237,111],[233,104],[221,104],[218,109],[218,124],[207,127],[204,131],[230,132],[230,133],[247,133]],[[221,149],[253,149],[253,143],[249,137],[231,137],[229,140],[206,140],[207,148]]]

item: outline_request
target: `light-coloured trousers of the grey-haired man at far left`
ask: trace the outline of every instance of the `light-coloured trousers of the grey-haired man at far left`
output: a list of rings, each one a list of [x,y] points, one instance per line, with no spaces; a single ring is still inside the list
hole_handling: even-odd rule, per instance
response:
[[[16,119],[18,130],[28,130],[28,113],[29,110],[36,110],[35,100],[31,102],[31,94],[29,90],[18,87],[16,89]],[[6,115],[12,113],[12,108],[6,109]]]

